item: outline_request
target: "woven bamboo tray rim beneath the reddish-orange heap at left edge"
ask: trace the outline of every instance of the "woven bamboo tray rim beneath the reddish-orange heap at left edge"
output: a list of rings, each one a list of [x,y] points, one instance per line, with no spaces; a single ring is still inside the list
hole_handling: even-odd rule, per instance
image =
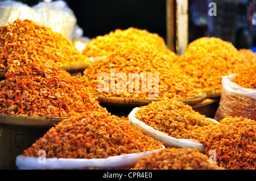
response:
[[[13,116],[0,113],[0,124],[24,127],[52,127],[68,117]]]

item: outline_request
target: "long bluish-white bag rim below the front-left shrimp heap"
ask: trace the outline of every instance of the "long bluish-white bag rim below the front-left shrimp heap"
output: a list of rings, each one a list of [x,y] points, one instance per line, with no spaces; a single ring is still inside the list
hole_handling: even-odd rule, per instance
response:
[[[164,146],[163,146],[164,148]],[[158,150],[154,150],[158,151]],[[117,155],[108,158],[36,158],[36,157],[16,157],[16,166],[19,170],[42,170],[42,169],[82,169],[86,167],[97,167],[100,169],[118,169],[122,167],[134,166],[141,157],[151,155],[153,151],[142,153],[130,153]]]

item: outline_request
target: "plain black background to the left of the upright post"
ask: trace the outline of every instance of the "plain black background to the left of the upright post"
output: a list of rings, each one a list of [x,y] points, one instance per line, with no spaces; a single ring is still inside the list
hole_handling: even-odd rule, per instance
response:
[[[22,0],[34,6],[40,1]],[[146,29],[166,39],[165,0],[92,0],[65,1],[74,11],[84,36],[105,35],[117,28]]]

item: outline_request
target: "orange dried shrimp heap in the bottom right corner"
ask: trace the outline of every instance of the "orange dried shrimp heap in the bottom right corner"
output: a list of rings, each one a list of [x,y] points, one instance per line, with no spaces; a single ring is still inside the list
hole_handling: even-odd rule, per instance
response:
[[[256,122],[244,117],[226,116],[218,125],[198,128],[197,141],[205,154],[215,152],[219,166],[230,170],[256,169]]]

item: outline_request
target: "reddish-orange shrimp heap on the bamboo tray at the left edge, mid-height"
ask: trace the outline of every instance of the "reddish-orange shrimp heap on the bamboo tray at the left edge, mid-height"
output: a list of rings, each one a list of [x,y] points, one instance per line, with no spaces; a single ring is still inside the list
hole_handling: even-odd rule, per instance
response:
[[[60,67],[32,64],[10,70],[0,82],[0,113],[69,117],[85,111],[106,112],[81,79]]]

